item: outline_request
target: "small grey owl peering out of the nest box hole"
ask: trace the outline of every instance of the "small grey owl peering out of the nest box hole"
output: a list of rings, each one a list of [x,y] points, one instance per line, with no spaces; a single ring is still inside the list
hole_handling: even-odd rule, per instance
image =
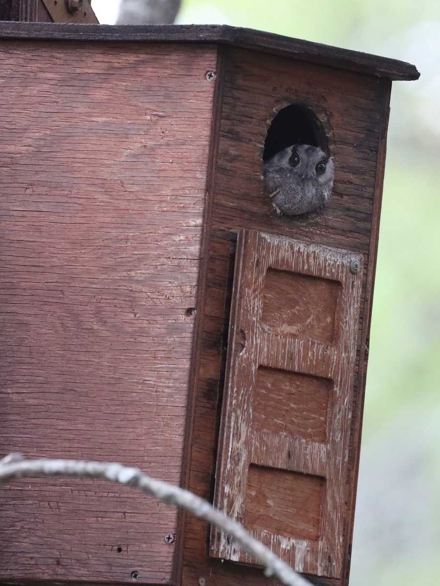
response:
[[[263,170],[266,193],[279,216],[298,216],[323,206],[330,199],[333,176],[333,161],[311,145],[283,149]]]

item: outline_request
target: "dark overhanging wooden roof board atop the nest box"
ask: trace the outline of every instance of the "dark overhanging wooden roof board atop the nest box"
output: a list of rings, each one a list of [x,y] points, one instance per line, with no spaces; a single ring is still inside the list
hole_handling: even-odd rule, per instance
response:
[[[2,39],[221,43],[391,80],[415,80],[414,65],[260,30],[225,25],[83,25],[0,21]]]

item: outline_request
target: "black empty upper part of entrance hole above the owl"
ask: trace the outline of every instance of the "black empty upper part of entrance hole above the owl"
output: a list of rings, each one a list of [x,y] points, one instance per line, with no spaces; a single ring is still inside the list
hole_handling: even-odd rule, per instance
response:
[[[265,141],[263,161],[295,144],[320,147],[329,154],[327,138],[313,110],[302,104],[283,108],[273,118]]]

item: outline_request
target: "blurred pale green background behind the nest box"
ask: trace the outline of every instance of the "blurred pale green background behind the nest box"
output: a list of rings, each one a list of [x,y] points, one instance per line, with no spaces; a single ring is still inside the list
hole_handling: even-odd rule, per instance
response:
[[[93,0],[101,23],[118,0]],[[435,584],[440,555],[440,2],[183,0],[177,23],[268,30],[414,63],[395,81],[350,586]],[[437,582],[438,583],[438,582]]]

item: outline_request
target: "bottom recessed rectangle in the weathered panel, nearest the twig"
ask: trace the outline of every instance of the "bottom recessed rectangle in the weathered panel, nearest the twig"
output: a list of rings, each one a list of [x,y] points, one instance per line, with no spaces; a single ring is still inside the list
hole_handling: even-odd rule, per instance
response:
[[[325,484],[320,476],[251,464],[245,500],[246,529],[317,540]]]

